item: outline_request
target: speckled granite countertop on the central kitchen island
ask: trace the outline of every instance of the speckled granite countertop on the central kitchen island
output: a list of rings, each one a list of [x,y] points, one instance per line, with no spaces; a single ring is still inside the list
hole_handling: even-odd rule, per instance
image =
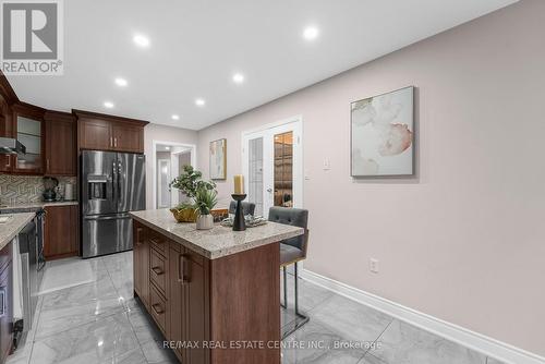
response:
[[[276,222],[246,228],[245,231],[233,231],[232,228],[220,225],[215,225],[210,230],[196,230],[194,222],[177,222],[168,209],[130,214],[135,220],[208,259],[237,254],[304,233],[302,228]]]

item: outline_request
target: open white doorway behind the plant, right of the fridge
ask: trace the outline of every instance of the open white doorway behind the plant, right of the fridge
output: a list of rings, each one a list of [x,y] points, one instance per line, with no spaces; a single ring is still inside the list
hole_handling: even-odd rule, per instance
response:
[[[187,197],[170,182],[185,165],[196,167],[196,147],[191,144],[154,141],[154,207],[171,208]]]

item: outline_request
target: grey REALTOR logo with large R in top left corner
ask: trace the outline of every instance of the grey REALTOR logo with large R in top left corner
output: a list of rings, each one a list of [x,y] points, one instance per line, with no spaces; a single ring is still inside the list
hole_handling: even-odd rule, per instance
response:
[[[1,69],[4,74],[62,74],[60,0],[2,0],[1,20]]]

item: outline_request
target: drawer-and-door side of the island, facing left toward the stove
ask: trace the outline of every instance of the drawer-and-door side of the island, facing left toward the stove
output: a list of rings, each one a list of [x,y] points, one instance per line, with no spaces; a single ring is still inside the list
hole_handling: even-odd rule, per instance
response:
[[[209,260],[133,221],[134,291],[184,364],[210,363]],[[183,348],[198,342],[199,348]]]

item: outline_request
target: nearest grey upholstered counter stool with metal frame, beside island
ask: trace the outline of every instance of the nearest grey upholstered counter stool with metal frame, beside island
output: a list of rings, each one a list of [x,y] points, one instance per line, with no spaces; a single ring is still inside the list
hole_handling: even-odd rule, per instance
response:
[[[271,207],[269,209],[269,221],[291,225],[304,229],[304,234],[287,239],[280,242],[280,267],[283,270],[283,304],[288,307],[288,272],[287,267],[293,264],[295,275],[295,325],[282,332],[282,339],[299,329],[308,321],[308,317],[299,312],[299,272],[298,263],[306,258],[308,245],[308,210],[290,207]]]

